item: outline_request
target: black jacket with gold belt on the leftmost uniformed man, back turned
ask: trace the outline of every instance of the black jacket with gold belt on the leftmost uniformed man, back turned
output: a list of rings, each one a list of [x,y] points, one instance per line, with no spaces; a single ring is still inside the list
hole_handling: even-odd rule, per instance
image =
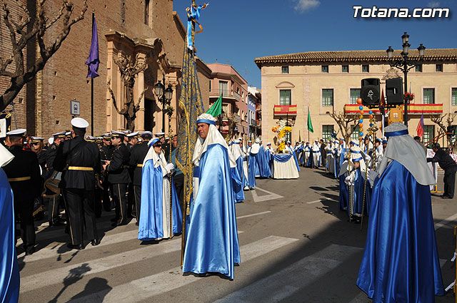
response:
[[[9,152],[14,159],[4,166],[9,184],[14,193],[14,200],[33,200],[41,193],[41,176],[36,153],[23,150],[20,145],[13,145]]]

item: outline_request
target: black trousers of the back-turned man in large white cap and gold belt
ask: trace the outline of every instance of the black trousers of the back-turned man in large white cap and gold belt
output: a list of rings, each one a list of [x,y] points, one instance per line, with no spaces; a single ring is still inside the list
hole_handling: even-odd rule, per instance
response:
[[[98,239],[94,212],[94,190],[65,188],[64,197],[66,211],[69,213],[71,244],[84,244],[84,225],[89,240]]]

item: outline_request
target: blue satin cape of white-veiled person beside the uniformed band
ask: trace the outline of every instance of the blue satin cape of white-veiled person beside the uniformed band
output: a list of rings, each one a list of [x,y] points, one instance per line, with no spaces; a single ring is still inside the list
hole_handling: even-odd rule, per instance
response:
[[[141,173],[141,216],[138,228],[138,239],[149,241],[164,237],[164,219],[162,217],[162,186],[164,177],[160,166],[154,168],[152,160],[146,161]],[[171,179],[173,232],[182,232],[182,212],[178,195]],[[143,215],[144,214],[144,215]]]

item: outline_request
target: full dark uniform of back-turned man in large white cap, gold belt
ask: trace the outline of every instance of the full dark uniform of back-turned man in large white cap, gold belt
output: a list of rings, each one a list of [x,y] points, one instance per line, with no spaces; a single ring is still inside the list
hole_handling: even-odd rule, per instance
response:
[[[95,174],[101,168],[99,149],[82,136],[66,140],[57,149],[54,169],[62,172],[63,189],[69,212],[70,237],[74,248],[83,243],[84,223],[89,240],[98,241],[94,213]]]

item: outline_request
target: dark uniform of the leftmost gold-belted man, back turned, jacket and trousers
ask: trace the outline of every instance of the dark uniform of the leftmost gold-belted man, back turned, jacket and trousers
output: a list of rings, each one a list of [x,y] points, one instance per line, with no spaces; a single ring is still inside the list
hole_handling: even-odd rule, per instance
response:
[[[34,252],[34,199],[41,193],[41,176],[36,153],[20,145],[9,148],[14,159],[4,166],[14,194],[14,212],[21,222],[21,238],[26,254]]]

